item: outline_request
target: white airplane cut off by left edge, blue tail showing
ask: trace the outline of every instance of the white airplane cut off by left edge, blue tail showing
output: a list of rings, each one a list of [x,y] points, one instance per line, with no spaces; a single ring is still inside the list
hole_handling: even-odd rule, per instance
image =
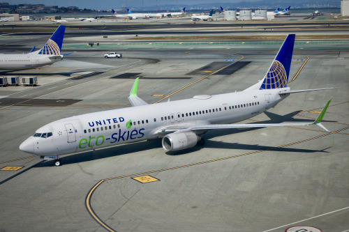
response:
[[[59,26],[45,46],[36,52],[32,49],[27,54],[1,54],[0,70],[24,70],[61,61],[66,55],[61,54],[65,30],[66,26]]]

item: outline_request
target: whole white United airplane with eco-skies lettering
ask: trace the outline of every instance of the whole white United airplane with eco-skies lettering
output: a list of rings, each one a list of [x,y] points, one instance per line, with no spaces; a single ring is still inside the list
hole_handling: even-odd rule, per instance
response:
[[[148,105],[137,95],[137,78],[128,95],[133,107],[54,121],[36,130],[20,150],[55,160],[59,166],[59,155],[146,139],[162,138],[163,148],[170,152],[203,146],[201,135],[214,129],[319,125],[327,130],[320,122],[330,100],[313,123],[228,124],[261,114],[291,93],[327,89],[291,91],[287,86],[294,42],[295,35],[288,35],[265,77],[244,91]]]

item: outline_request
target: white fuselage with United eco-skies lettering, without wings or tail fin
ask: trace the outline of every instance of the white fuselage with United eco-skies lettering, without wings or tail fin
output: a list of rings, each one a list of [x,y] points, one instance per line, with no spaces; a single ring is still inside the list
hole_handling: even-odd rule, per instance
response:
[[[236,123],[274,107],[287,96],[279,92],[289,89],[198,95],[186,100],[64,118],[40,127],[24,141],[27,147],[22,149],[36,155],[64,155],[161,138],[168,134],[162,132],[163,127]]]

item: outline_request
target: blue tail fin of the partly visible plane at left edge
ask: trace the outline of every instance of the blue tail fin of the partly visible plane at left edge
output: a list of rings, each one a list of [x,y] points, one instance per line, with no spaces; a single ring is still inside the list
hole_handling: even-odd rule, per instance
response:
[[[38,54],[60,55],[65,31],[66,31],[65,25],[59,26],[57,30],[54,31],[51,38],[47,40],[45,46],[42,49],[40,49]]]

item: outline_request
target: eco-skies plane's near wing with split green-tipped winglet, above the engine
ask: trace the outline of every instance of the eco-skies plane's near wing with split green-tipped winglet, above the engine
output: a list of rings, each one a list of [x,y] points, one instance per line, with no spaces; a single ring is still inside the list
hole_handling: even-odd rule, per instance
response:
[[[158,130],[158,133],[171,133],[176,132],[178,130],[214,130],[214,129],[232,129],[232,128],[253,128],[253,127],[290,127],[290,126],[301,126],[301,125],[318,125],[323,130],[329,132],[329,130],[326,129],[321,124],[322,118],[324,117],[327,107],[329,106],[329,100],[327,102],[327,105],[322,109],[321,113],[319,114],[318,118],[316,118],[313,123],[260,123],[260,124],[207,124],[207,125],[193,125],[193,126],[178,126],[178,127],[165,127]]]

